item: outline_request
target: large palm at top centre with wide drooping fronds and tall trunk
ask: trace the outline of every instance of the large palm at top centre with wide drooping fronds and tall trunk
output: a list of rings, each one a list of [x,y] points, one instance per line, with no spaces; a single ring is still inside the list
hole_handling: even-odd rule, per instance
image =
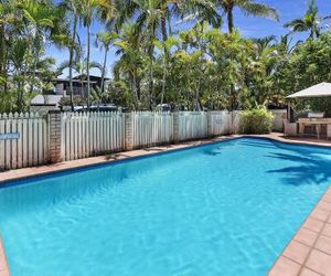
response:
[[[172,32],[170,26],[172,17],[193,14],[189,15],[189,18],[197,21],[209,21],[218,25],[221,24],[221,17],[218,17],[211,0],[122,0],[120,2],[121,7],[119,9],[122,11],[122,17],[132,18],[136,15],[137,34],[143,34],[148,38],[149,94],[150,108],[152,109],[154,104],[153,54],[154,41],[158,40],[157,34],[161,33],[163,42],[168,40],[169,34],[171,35]],[[119,21],[124,20],[120,19]],[[186,21],[186,19],[182,21]]]

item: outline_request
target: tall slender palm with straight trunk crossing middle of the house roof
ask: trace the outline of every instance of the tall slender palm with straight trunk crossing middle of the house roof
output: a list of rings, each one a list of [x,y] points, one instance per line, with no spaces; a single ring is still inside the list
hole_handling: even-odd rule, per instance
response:
[[[110,0],[83,0],[83,22],[87,30],[87,109],[90,106],[89,55],[90,55],[90,25],[94,19],[109,20],[113,17]]]

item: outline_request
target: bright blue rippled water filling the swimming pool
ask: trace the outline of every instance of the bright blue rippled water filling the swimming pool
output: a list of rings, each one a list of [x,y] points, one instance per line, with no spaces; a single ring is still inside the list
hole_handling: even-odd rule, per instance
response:
[[[13,276],[265,275],[331,183],[331,150],[236,139],[0,189]]]

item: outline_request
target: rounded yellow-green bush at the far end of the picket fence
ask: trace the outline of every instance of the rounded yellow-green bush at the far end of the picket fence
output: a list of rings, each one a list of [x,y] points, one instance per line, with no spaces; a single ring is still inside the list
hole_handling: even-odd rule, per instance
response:
[[[246,110],[242,116],[244,134],[269,134],[273,128],[274,115],[265,107]]]

